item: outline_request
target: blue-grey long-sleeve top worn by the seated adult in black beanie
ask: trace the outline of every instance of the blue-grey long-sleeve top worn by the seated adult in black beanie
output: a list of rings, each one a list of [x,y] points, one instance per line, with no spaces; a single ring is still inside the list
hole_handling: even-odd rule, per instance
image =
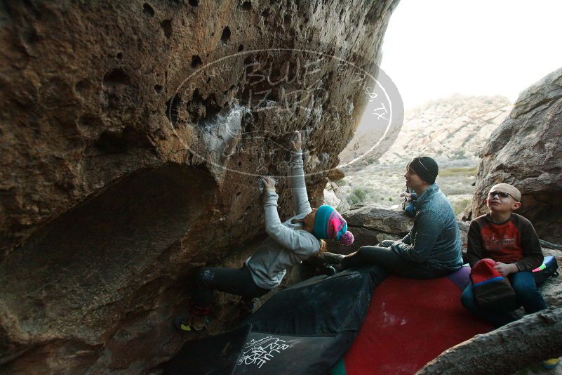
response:
[[[458,270],[462,266],[459,225],[453,207],[436,183],[417,198],[415,209],[412,229],[392,249],[408,261],[436,270]]]

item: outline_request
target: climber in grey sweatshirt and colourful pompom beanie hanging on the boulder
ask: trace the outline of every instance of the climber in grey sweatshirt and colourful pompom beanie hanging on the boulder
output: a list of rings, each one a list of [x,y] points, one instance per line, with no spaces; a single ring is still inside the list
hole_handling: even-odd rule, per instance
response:
[[[347,231],[344,218],[331,206],[311,209],[305,185],[301,136],[295,133],[291,152],[291,191],[296,215],[281,223],[277,212],[278,195],[271,177],[262,177],[265,195],[265,231],[269,235],[242,268],[204,267],[196,272],[196,284],[189,301],[189,316],[176,317],[175,327],[182,331],[201,331],[208,324],[213,290],[241,296],[241,309],[253,311],[253,299],[281,284],[286,268],[326,250],[324,239],[344,245],[354,237]]]

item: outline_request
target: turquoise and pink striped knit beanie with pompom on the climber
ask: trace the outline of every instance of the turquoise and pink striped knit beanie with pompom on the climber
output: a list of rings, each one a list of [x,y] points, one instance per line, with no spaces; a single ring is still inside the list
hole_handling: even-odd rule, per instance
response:
[[[347,231],[345,219],[327,204],[323,204],[316,211],[314,235],[318,239],[335,239],[345,246],[349,246],[354,240],[352,232]]]

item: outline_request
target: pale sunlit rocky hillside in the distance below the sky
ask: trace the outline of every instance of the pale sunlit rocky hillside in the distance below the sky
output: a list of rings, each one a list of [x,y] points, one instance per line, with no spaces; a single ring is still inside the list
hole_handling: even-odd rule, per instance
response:
[[[431,100],[408,110],[394,144],[382,156],[367,155],[358,166],[378,159],[394,164],[413,155],[426,154],[446,159],[476,159],[491,133],[511,111],[504,96],[462,96]],[[358,129],[349,145],[340,153],[341,163],[366,152],[380,138],[379,129]],[[355,169],[355,168],[354,168]]]

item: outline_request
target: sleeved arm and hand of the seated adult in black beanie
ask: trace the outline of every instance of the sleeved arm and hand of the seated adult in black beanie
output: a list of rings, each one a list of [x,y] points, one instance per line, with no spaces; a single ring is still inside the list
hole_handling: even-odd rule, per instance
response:
[[[429,258],[441,233],[441,218],[432,211],[418,212],[414,218],[413,228],[415,228],[414,238],[411,237],[411,231],[408,235],[412,244],[394,242],[392,249],[408,261],[422,263]]]

